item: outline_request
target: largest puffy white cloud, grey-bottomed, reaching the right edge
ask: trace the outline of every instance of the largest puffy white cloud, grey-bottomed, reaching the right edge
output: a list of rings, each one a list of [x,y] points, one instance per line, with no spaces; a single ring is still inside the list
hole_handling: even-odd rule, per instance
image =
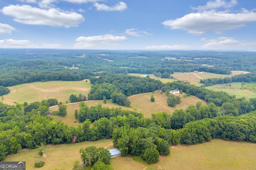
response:
[[[201,35],[215,31],[219,33],[219,30],[236,29],[253,21],[256,21],[254,11],[243,10],[242,13],[232,14],[210,10],[187,14],[176,20],[166,20],[162,24],[171,29],[184,29],[194,35]]]

